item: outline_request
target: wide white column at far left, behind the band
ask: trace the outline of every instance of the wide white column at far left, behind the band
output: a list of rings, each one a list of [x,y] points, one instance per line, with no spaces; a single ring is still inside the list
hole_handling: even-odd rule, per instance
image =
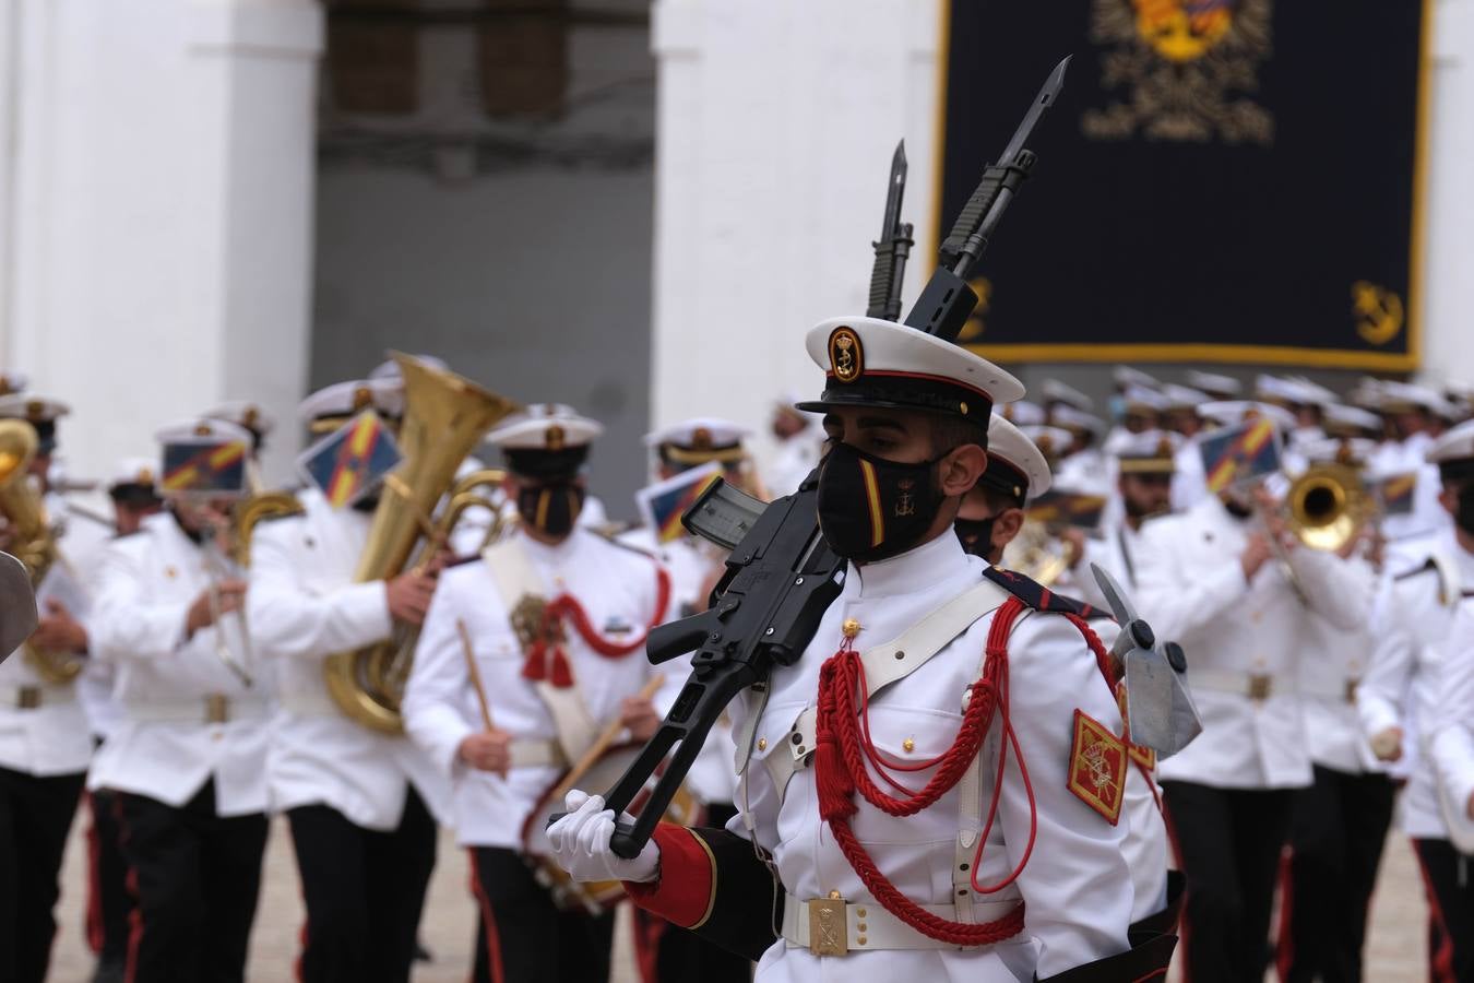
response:
[[[317,1],[10,3],[4,364],[74,405],[74,475],[226,398],[287,419],[283,475],[307,377]]]

